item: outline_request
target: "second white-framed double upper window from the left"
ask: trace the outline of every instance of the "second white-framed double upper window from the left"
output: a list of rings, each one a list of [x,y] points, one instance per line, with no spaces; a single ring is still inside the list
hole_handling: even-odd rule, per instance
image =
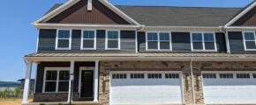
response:
[[[215,33],[193,32],[192,51],[213,51],[216,52]]]

